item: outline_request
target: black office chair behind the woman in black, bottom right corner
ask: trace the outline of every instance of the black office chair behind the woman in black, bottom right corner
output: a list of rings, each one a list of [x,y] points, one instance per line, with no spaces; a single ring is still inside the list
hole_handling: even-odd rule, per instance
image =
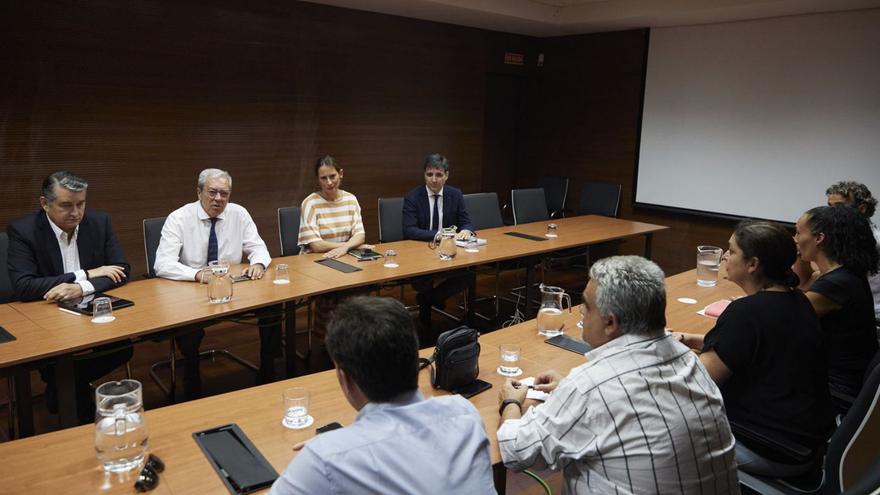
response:
[[[734,435],[738,434],[737,430],[740,435],[744,432],[746,435],[755,434],[738,427]],[[874,443],[877,431],[880,431],[880,366],[870,369],[855,402],[831,435],[824,461],[816,459],[818,467],[812,477],[805,480],[778,479],[739,471],[739,482],[759,493],[875,492],[880,488],[880,472],[876,469],[880,453]],[[786,445],[766,436],[763,436],[761,444],[789,458],[792,458],[790,453],[797,449],[797,446]],[[797,460],[796,457],[793,459]],[[875,468],[871,469],[872,466]],[[856,492],[856,486],[867,486],[869,489]]]

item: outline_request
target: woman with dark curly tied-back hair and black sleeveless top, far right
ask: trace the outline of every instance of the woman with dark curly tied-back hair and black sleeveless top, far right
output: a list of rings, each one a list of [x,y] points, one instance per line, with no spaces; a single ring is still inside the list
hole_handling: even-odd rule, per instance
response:
[[[797,221],[795,242],[803,262],[819,268],[801,284],[829,339],[831,390],[856,396],[877,352],[874,300],[867,275],[878,254],[868,220],[838,204],[819,206]]]

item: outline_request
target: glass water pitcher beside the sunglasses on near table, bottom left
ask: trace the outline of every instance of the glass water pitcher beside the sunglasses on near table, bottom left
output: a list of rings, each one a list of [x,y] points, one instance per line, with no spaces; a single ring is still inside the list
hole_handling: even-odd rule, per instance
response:
[[[141,382],[107,382],[95,390],[95,453],[104,471],[136,469],[147,451]]]

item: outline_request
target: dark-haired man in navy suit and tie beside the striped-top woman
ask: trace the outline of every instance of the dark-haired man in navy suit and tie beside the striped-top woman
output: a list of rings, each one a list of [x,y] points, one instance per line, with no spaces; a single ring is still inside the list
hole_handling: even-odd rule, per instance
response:
[[[425,158],[424,172],[425,186],[413,189],[403,199],[404,239],[430,241],[440,228],[453,225],[459,229],[458,239],[474,235],[461,190],[446,185],[449,160],[439,153],[430,154]],[[472,277],[467,272],[452,273],[436,287],[432,276],[413,279],[418,292],[419,320],[425,331],[431,328],[431,306],[442,308],[446,299],[470,285]]]

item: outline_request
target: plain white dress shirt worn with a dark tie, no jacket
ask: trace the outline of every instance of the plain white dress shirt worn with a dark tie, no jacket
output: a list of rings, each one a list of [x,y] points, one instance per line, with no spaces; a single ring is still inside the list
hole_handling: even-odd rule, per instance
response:
[[[269,266],[272,257],[247,210],[229,203],[217,218],[214,227],[217,259],[241,263],[244,254],[251,265],[259,263],[264,268]],[[156,275],[171,280],[194,280],[196,273],[208,264],[210,235],[211,217],[198,201],[171,212],[165,219],[162,239],[156,250],[156,262],[153,264]]]

